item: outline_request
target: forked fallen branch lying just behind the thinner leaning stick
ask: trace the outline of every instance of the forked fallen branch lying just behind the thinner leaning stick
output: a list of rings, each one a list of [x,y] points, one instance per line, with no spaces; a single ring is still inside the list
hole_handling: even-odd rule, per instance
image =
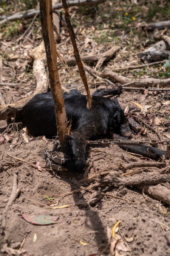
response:
[[[98,54],[92,54],[92,55],[81,55],[81,59],[85,64],[96,64],[97,68],[100,68],[104,61],[110,60],[110,58],[113,57],[113,55],[121,49],[120,46],[113,46],[111,49],[107,50],[106,52],[98,53]],[[70,58],[66,60],[66,63],[68,66],[74,66],[76,65],[76,61],[74,58]]]

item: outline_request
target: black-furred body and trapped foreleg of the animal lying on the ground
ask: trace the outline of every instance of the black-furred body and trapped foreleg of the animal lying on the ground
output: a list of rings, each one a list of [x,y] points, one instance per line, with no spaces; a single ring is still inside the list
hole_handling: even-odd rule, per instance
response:
[[[101,95],[101,92],[98,94]],[[103,94],[106,92],[104,91]],[[122,112],[117,98],[111,100],[93,96],[91,110],[88,110],[85,95],[74,91],[72,94],[65,93],[63,96],[66,116],[71,122],[71,136],[67,136],[58,149],[68,156],[64,167],[72,171],[81,171],[85,167],[86,141],[89,139],[110,138],[109,135],[115,133],[123,137],[131,135],[128,119]],[[34,96],[23,107],[23,118],[32,135],[45,135],[46,137],[57,135],[56,116],[51,93]],[[138,154],[141,154],[141,150]],[[151,154],[151,158],[154,159],[153,155],[154,152]]]

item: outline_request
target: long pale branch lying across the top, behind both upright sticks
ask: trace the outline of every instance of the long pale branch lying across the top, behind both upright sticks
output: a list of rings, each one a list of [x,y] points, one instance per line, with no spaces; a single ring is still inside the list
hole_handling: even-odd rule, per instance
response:
[[[84,6],[84,5],[97,5],[99,3],[104,2],[105,0],[74,0],[74,1],[67,1],[68,6]],[[58,3],[57,5],[53,6],[53,10],[61,9],[63,7],[62,3]],[[0,21],[0,25],[4,24],[5,22],[21,20],[21,19],[28,19],[34,17],[36,14],[40,14],[39,9],[30,9],[25,12],[19,12],[12,14],[9,17],[5,17],[5,19]]]

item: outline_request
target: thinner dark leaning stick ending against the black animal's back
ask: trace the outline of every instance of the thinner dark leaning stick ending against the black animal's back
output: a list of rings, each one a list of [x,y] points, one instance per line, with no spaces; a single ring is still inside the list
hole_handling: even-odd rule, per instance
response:
[[[62,3],[63,3],[63,8],[64,8],[65,21],[66,21],[66,24],[67,24],[67,28],[68,28],[70,38],[71,38],[71,42],[73,44],[74,57],[76,59],[76,64],[77,64],[78,69],[79,69],[80,77],[82,79],[85,90],[87,92],[87,107],[90,109],[91,105],[92,105],[92,97],[91,97],[90,90],[89,90],[89,87],[88,87],[87,77],[86,77],[86,74],[85,74],[85,71],[84,71],[84,68],[83,68],[83,63],[82,63],[82,60],[81,60],[80,55],[79,55],[79,50],[77,48],[74,30],[73,30],[73,27],[72,27],[71,22],[70,22],[70,15],[68,13],[68,5],[67,5],[65,0],[62,0]]]

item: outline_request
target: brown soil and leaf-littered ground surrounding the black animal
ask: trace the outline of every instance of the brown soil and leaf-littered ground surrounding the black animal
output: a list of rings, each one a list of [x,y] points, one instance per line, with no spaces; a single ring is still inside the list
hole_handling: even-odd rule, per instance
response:
[[[80,40],[77,44],[82,54],[104,52],[114,44],[122,46],[115,58],[104,63],[102,68],[107,66],[116,70],[120,67],[139,65],[141,62],[136,54],[155,42],[153,32],[143,31],[138,25],[144,17],[148,18],[147,11],[153,6],[148,4],[140,7],[132,4],[133,1],[124,2],[121,6],[117,1],[113,6],[112,1],[106,1],[97,9],[70,8],[71,21]],[[156,2],[160,6],[163,5],[162,1]],[[165,1],[165,8],[167,3]],[[156,10],[157,16],[160,8]],[[162,15],[166,20],[167,14]],[[120,19],[117,18],[119,16]],[[147,21],[154,22],[155,19],[155,16],[150,16]],[[28,28],[26,24],[28,21],[31,23],[30,19],[16,25],[17,33],[13,34],[9,33],[6,26],[2,27],[0,91],[5,104],[17,102],[31,95],[36,88],[30,52],[42,41],[39,18],[34,22],[34,30],[25,43],[23,44],[23,38],[18,40]],[[61,42],[57,45],[57,50],[63,58],[67,59],[72,46],[63,20],[61,25]],[[62,67],[59,73],[60,82],[64,88],[68,90],[77,88],[85,94],[76,66],[69,69]],[[145,69],[125,70],[121,74],[133,80],[145,77],[159,78],[158,74],[162,74],[164,78],[167,70],[163,64],[160,64]],[[91,93],[96,88],[112,88],[100,77],[94,79],[88,74],[87,77]],[[132,101],[141,104],[142,107],[149,106],[141,111],[135,105],[136,108],[127,113],[128,118],[134,114],[138,115],[156,131],[153,132],[139,122],[141,131],[133,132],[134,139],[142,141],[151,139],[158,141],[160,137],[162,140],[170,139],[170,94],[168,92],[148,91],[145,95],[142,91],[122,90],[117,97],[122,109],[127,106],[134,107]],[[81,179],[88,175],[102,170],[111,171],[116,165],[124,166],[127,163],[151,160],[130,154],[114,144],[106,147],[88,145],[88,167],[85,171],[79,174],[66,171],[59,173],[46,167],[46,162],[42,158],[44,149],[53,148],[53,140],[45,137],[34,138],[22,122],[7,124],[6,120],[2,120],[0,133],[3,133],[0,144],[1,214],[12,193],[14,173],[17,173],[18,188],[21,189],[19,196],[9,205],[6,213],[5,228],[0,235],[1,255],[13,253],[13,255],[25,256],[167,256],[170,254],[168,205],[135,187],[103,187],[101,184],[91,189],[90,185],[98,180],[91,180],[89,183],[81,182]],[[162,145],[159,147],[163,149]],[[40,162],[43,170],[40,170],[41,168],[38,170],[37,162]],[[35,166],[32,166],[32,163]],[[168,160],[166,164],[169,164]],[[158,168],[152,168],[152,170],[158,170]],[[150,171],[149,168],[141,168],[141,173],[134,175],[140,177],[147,171]],[[119,173],[123,173],[121,167]],[[164,185],[170,186],[169,182]],[[91,200],[95,197],[93,193],[96,192],[102,193],[102,198],[91,204]],[[51,204],[61,208],[51,209]],[[57,221],[51,225],[33,225],[27,222],[22,214],[49,215],[56,217]],[[121,222],[117,223],[118,221]],[[110,236],[113,227],[116,228],[115,239]],[[119,246],[116,245],[117,241]],[[5,250],[6,243],[10,249],[16,250],[13,252]]]

